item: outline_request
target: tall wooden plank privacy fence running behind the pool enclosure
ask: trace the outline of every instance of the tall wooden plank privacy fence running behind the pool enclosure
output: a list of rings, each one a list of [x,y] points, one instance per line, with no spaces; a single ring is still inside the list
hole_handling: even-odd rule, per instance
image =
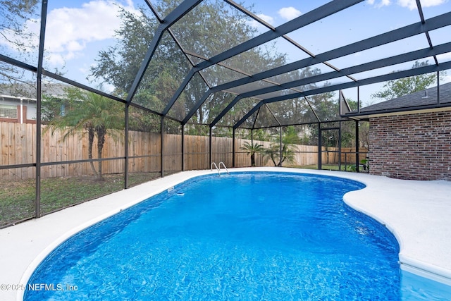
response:
[[[89,159],[88,137],[76,133],[63,139],[63,131],[51,131],[47,125],[42,125],[42,150],[41,150],[41,177],[66,177],[66,176],[92,176],[92,168],[89,162],[76,162],[70,164],[58,164],[64,161],[78,161]],[[123,133],[118,133],[117,139],[106,137],[102,158],[102,170],[104,174],[123,173],[125,168],[125,143]],[[240,149],[243,143],[250,140],[235,139],[235,166],[250,166],[250,157],[244,150]],[[258,142],[265,148],[270,142]],[[185,170],[208,169],[209,166],[209,137],[185,135],[184,141]],[[0,166],[34,164],[36,162],[36,125],[20,123],[0,123]],[[212,137],[211,160],[218,164],[223,161],[226,166],[233,166],[233,139],[229,137]],[[309,145],[295,145],[294,165],[305,166],[318,163],[318,148]],[[347,149],[352,152],[352,149]],[[345,152],[342,149],[342,152]],[[92,156],[97,158],[97,141],[94,139]],[[182,136],[166,134],[163,135],[163,160],[161,159],[161,135],[159,133],[144,133],[137,131],[129,132],[128,139],[128,171],[130,173],[147,173],[161,171],[182,170]],[[346,156],[346,157],[345,157]],[[364,159],[366,154],[362,154]],[[115,159],[116,158],[116,159]],[[323,153],[323,162],[338,163],[338,154],[333,157]],[[352,164],[355,155],[342,153],[342,163]],[[52,163],[52,164],[47,164]],[[53,164],[56,163],[56,164]],[[261,154],[256,155],[257,166],[271,166],[270,159],[264,159]],[[94,162],[97,169],[97,162]],[[2,180],[18,180],[35,178],[35,168],[9,168],[0,170]]]

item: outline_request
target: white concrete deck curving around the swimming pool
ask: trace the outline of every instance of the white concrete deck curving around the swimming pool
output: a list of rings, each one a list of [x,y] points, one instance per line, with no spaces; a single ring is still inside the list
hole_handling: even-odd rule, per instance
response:
[[[230,168],[229,171],[290,171],[358,180],[366,188],[344,200],[383,223],[400,243],[401,268],[451,285],[451,182],[396,180],[364,173],[297,168]],[[185,171],[63,209],[0,230],[0,300],[21,300],[21,290],[37,264],[57,245],[118,211],[195,176],[217,171]]]

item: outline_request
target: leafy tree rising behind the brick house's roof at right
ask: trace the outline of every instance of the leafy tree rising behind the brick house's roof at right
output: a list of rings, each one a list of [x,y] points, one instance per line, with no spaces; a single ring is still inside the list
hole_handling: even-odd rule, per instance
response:
[[[412,69],[428,66],[428,61],[416,61]],[[398,80],[389,80],[383,85],[383,90],[371,94],[371,97],[393,99],[413,92],[425,90],[436,81],[435,73],[410,76],[409,78],[400,78]]]

